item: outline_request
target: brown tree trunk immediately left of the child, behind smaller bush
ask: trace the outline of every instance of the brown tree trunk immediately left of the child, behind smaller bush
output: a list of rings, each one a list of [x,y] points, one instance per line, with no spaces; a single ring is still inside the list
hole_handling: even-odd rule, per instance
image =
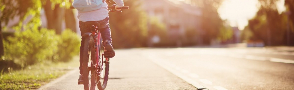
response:
[[[70,0],[71,2],[71,0]],[[76,20],[74,18],[73,9],[66,9],[65,10],[65,26],[68,29],[71,29],[73,32],[76,32]]]

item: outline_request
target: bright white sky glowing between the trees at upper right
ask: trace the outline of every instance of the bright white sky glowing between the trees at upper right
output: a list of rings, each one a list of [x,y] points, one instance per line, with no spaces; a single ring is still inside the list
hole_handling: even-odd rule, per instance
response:
[[[258,11],[257,4],[258,0],[225,0],[218,13],[223,20],[228,20],[231,26],[238,26],[243,30],[248,25],[248,20]],[[280,13],[286,10],[284,0],[280,0],[277,7]]]

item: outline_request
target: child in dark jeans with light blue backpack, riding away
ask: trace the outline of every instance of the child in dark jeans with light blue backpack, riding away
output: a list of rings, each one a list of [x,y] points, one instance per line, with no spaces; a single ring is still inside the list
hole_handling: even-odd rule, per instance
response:
[[[115,9],[118,10],[118,7],[123,7],[124,2],[122,0],[113,0],[116,3]],[[111,33],[110,33],[110,27],[109,27],[109,16],[108,16],[108,8],[107,3],[105,0],[74,0],[73,1],[73,7],[75,7],[78,10],[78,19],[79,21],[79,28],[81,31],[81,35],[91,32],[90,27],[86,27],[85,23],[88,21],[97,21],[99,22],[100,26],[98,27],[98,30],[101,33],[102,39],[103,39],[103,46],[106,51],[111,52],[114,57],[115,51],[112,47],[112,39],[111,39]],[[83,75],[82,75],[82,51],[83,51],[83,45],[84,41],[82,38],[81,46],[80,46],[80,58],[79,58],[79,79],[78,82],[83,82]]]

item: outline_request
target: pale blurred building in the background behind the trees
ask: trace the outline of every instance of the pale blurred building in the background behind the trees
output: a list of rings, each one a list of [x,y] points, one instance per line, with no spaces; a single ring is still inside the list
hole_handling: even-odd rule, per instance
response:
[[[178,46],[185,40],[185,31],[194,29],[201,31],[200,16],[202,15],[199,7],[192,7],[182,1],[169,0],[142,0],[143,9],[149,16],[157,17],[160,22],[166,25],[168,35]],[[197,35],[199,36],[199,35]],[[200,39],[195,37],[195,39]],[[199,40],[196,40],[199,41]]]

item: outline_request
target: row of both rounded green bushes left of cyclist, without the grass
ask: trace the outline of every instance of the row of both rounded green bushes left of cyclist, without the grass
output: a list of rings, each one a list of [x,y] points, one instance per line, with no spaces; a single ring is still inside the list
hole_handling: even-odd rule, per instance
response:
[[[45,60],[70,61],[74,55],[79,54],[80,37],[71,30],[56,35],[52,30],[27,29],[15,32],[13,37],[8,36],[3,43],[2,61],[13,61],[26,67]]]

